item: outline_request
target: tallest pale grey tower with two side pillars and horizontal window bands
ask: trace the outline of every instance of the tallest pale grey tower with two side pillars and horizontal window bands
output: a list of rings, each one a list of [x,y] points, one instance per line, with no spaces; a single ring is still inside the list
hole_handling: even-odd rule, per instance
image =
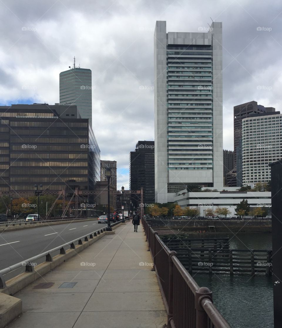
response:
[[[154,32],[155,201],[187,183],[223,187],[222,23]]]

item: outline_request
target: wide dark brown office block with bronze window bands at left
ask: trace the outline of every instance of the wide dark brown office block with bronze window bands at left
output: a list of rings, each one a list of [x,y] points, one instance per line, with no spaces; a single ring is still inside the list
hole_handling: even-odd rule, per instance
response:
[[[79,118],[77,118],[79,117]],[[76,106],[0,106],[0,191],[94,190],[100,149]]]

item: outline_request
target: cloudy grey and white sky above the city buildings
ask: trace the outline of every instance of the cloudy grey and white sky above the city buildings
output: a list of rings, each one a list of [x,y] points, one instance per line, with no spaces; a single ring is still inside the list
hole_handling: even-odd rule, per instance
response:
[[[129,186],[129,152],[153,140],[153,31],[223,22],[223,145],[233,150],[233,106],[281,108],[280,0],[0,0],[0,104],[59,102],[59,73],[92,71],[93,130],[101,159]]]

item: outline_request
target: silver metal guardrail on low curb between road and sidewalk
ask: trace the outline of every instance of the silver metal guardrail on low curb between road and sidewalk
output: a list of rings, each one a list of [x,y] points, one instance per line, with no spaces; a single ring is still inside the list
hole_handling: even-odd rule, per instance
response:
[[[117,222],[114,222],[114,223],[111,223],[111,227],[114,227],[119,223],[121,223],[121,220],[117,221]],[[49,251],[46,251],[44,253],[41,253],[41,254],[38,254],[36,256],[30,257],[30,258],[28,258],[24,261],[21,261],[19,263],[11,265],[8,268],[0,270],[0,288],[7,287],[4,275],[6,275],[6,274],[8,274],[8,273],[10,273],[14,270],[20,269],[22,267],[26,268],[26,272],[33,272],[34,271],[34,265],[32,265],[32,263],[35,260],[38,260],[42,257],[46,257],[46,262],[52,262],[53,257],[51,256],[51,253],[54,253],[56,251],[60,251],[60,254],[64,255],[64,254],[66,254],[66,250],[65,250],[66,247],[70,246],[70,249],[75,249],[75,245],[74,245],[75,242],[78,241],[78,245],[82,245],[83,241],[88,241],[89,239],[93,239],[93,236],[96,237],[98,235],[101,235],[101,233],[103,233],[105,231],[106,231],[106,227],[95,230],[95,231],[93,231],[93,232],[91,232],[87,235],[84,235],[82,237],[73,239],[73,240],[71,240],[71,241],[69,241],[69,242],[67,242],[63,245],[60,245],[58,247],[52,248]]]

